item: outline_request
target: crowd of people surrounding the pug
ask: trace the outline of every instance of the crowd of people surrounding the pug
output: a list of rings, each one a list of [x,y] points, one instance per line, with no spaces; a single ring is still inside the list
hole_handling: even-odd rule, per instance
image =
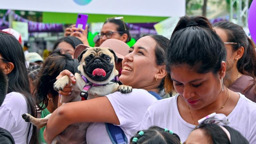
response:
[[[256,49],[241,26],[183,16],[170,40],[143,35],[129,47],[128,26],[111,18],[97,37],[95,46],[115,52],[119,84],[132,92],[62,105],[76,84],[77,57],[90,47],[87,27],[66,28],[44,59],[25,56],[19,41],[0,31],[0,143],[52,143],[70,124],[91,122],[87,144],[256,144]],[[63,76],[71,81],[55,91]],[[38,129],[24,113],[52,115]]]

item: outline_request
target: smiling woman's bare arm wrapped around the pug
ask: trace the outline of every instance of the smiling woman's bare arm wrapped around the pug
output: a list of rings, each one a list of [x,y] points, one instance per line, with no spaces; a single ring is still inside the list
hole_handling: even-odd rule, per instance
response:
[[[81,122],[120,124],[115,110],[105,96],[91,100],[66,103],[52,113],[44,130],[44,139],[47,143],[50,143],[68,125]]]

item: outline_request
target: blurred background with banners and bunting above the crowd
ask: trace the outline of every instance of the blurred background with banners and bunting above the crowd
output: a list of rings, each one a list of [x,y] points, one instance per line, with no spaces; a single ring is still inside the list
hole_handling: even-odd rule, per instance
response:
[[[170,38],[181,16],[203,15],[212,23],[230,20],[241,25],[248,36],[248,10],[252,0],[9,0],[0,5],[0,30],[13,28],[21,35],[24,50],[46,57],[65,28],[76,23],[78,13],[87,14],[88,41],[111,17],[124,17],[130,28],[132,46],[141,34]]]

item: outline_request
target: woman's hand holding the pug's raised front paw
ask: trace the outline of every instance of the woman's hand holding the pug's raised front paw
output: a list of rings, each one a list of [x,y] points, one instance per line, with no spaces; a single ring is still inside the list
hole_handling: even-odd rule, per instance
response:
[[[76,84],[75,76],[70,71],[68,71],[66,69],[63,70],[62,72],[60,72],[60,75],[56,77],[56,80],[60,79],[63,76],[66,76],[66,75],[69,76],[71,83],[68,83],[68,85],[66,85],[63,90],[59,91],[59,94],[64,95],[64,96],[70,95],[71,91],[72,91],[72,85]]]

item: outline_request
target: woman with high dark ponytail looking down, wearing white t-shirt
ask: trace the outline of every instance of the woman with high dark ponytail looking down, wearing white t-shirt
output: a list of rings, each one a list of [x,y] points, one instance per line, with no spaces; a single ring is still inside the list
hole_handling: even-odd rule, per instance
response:
[[[166,53],[165,90],[174,97],[151,105],[140,129],[152,125],[172,129],[184,142],[198,127],[198,120],[222,113],[250,142],[256,143],[256,103],[243,94],[229,90],[223,83],[226,72],[226,48],[202,16],[184,16],[174,29]],[[159,118],[161,117],[161,119]]]

